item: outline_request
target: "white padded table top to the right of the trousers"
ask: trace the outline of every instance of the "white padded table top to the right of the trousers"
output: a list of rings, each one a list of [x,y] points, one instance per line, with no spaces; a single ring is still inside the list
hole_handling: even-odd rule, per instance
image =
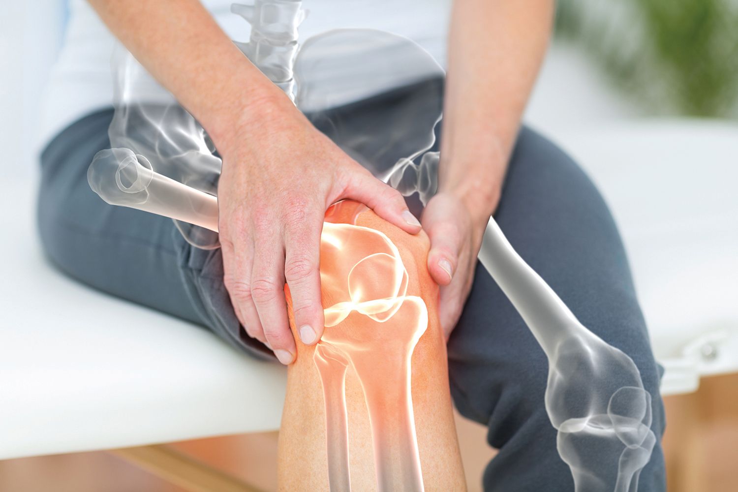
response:
[[[641,120],[554,136],[627,246],[663,394],[738,371],[738,125]]]

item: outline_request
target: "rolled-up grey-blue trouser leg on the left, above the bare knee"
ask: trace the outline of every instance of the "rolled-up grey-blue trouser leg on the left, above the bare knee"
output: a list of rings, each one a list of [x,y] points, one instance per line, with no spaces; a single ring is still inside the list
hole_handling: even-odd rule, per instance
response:
[[[90,189],[87,168],[110,148],[112,117],[112,109],[83,117],[41,155],[38,229],[47,256],[100,291],[204,325],[239,350],[275,360],[233,313],[220,249],[194,248],[170,219],[108,205]]]

